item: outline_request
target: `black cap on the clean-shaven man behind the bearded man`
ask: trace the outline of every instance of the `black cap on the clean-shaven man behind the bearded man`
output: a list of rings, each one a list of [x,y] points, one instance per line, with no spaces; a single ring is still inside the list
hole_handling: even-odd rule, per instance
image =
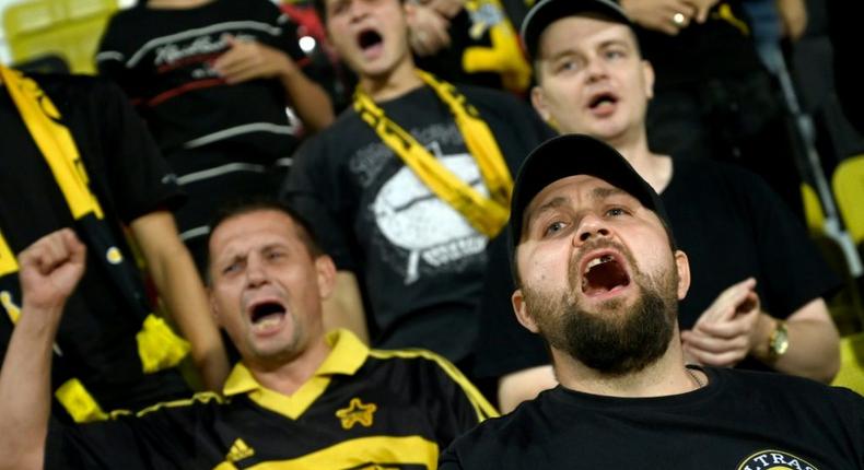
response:
[[[611,0],[541,0],[525,15],[519,28],[522,43],[532,59],[537,57],[540,35],[549,24],[565,16],[599,13],[611,21],[633,27],[633,22],[621,7]]]

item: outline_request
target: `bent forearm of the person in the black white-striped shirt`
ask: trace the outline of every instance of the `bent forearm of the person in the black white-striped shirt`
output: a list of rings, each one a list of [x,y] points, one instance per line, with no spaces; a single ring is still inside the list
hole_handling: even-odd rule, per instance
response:
[[[279,80],[285,89],[290,104],[308,130],[317,132],[332,122],[330,97],[295,64],[285,67]]]

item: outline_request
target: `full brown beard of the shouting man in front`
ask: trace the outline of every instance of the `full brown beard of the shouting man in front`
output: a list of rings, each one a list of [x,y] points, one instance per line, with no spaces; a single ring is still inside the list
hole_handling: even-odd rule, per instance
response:
[[[609,376],[642,371],[663,356],[678,316],[677,271],[651,278],[638,270],[623,247],[616,247],[635,271],[631,282],[639,289],[638,299],[629,307],[623,299],[614,298],[599,304],[598,312],[588,312],[571,292],[556,298],[524,289],[528,315],[549,345]],[[572,284],[573,292],[581,289]]]

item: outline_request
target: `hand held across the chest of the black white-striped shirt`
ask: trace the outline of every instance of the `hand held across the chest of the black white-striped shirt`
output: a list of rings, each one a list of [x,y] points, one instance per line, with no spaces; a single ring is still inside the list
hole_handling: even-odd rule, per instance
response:
[[[229,49],[213,61],[213,70],[229,84],[272,79],[296,71],[283,51],[254,39],[227,36]]]

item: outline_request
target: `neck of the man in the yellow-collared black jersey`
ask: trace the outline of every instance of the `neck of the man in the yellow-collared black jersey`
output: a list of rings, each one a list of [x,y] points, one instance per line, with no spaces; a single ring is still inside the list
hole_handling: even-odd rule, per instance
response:
[[[315,375],[329,354],[330,346],[324,338],[320,338],[310,344],[301,355],[289,361],[279,361],[279,364],[253,361],[244,361],[244,363],[264,387],[290,396]]]

